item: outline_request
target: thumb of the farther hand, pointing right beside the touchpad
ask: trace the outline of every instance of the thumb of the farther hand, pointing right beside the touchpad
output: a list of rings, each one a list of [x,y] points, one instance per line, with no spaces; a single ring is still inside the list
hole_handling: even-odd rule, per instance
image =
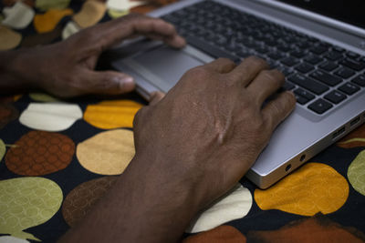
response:
[[[84,74],[88,93],[119,95],[134,89],[134,81],[131,76],[115,71],[86,71]]]

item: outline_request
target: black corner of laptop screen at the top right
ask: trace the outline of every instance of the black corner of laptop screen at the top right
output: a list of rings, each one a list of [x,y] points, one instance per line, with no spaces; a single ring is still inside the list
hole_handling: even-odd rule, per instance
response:
[[[365,0],[276,0],[365,28]]]

